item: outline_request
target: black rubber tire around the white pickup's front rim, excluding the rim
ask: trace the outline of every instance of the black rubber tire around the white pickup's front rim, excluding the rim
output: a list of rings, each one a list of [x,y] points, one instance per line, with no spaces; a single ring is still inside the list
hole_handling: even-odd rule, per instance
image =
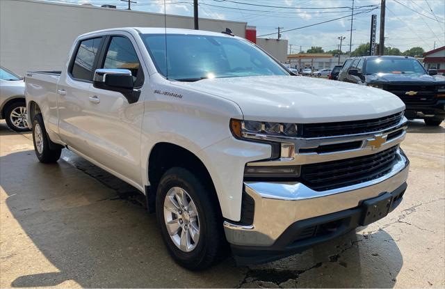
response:
[[[190,196],[199,216],[200,237],[193,251],[182,251],[172,241],[165,224],[164,200],[172,187],[184,189]],[[163,241],[172,258],[188,270],[203,270],[227,256],[227,241],[223,217],[214,189],[186,169],[174,167],[164,173],[156,193],[156,218]],[[182,231],[180,231],[182,232]],[[178,233],[179,235],[179,233]]]

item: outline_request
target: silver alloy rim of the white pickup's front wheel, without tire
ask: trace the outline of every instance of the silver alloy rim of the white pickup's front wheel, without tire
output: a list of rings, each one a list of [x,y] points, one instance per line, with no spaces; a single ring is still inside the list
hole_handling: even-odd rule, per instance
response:
[[[200,240],[200,217],[186,190],[172,187],[164,199],[164,221],[175,246],[184,252],[193,251]]]

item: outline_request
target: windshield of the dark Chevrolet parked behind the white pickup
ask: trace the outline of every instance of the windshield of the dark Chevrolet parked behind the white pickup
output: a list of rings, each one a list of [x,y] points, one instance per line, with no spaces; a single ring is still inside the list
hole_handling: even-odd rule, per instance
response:
[[[366,75],[374,73],[394,73],[394,74],[426,74],[423,66],[410,58],[375,58],[366,63]]]

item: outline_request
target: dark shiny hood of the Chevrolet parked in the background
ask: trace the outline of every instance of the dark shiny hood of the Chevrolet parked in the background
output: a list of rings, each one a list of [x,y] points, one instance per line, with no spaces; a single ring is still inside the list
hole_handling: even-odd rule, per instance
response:
[[[430,75],[423,74],[394,74],[394,73],[375,73],[373,75],[366,75],[366,82],[368,83],[407,83],[410,84],[444,84],[445,81],[437,79]]]

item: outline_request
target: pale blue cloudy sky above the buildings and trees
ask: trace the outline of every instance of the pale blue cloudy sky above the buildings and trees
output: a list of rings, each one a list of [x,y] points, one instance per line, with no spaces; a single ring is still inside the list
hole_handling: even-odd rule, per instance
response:
[[[67,3],[113,4],[120,9],[127,3],[120,0],[51,0]],[[134,0],[133,10],[163,13],[164,0]],[[236,3],[237,2],[237,3]],[[168,14],[193,16],[193,0],[165,0]],[[257,26],[257,36],[275,33],[276,27],[294,29],[330,19],[350,15],[352,0],[199,0],[200,17],[248,22]],[[243,4],[247,3],[247,4]],[[250,5],[248,5],[250,4]],[[371,14],[380,21],[380,0],[355,0],[359,15],[354,16],[352,49],[369,42]],[[277,6],[277,7],[270,7]],[[343,8],[341,8],[343,7]],[[373,11],[369,11],[376,8]],[[426,51],[445,45],[445,0],[387,0],[385,23],[386,46],[402,51],[421,46]],[[293,45],[293,52],[321,46],[325,50],[337,49],[339,36],[346,36],[343,52],[349,49],[350,17],[338,19],[305,29],[282,33]],[[345,43],[346,42],[346,43]],[[346,45],[346,46],[344,46]]]

